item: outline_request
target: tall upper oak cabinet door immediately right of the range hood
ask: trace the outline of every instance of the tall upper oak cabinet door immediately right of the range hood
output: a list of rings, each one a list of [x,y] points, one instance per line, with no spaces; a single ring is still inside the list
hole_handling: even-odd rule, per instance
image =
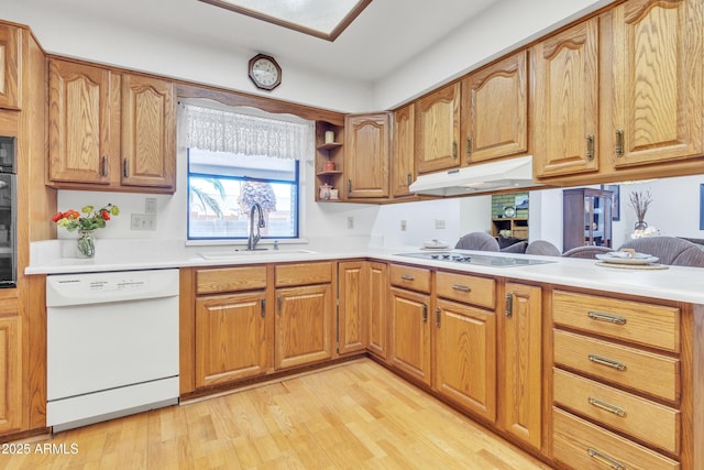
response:
[[[537,176],[598,170],[598,19],[532,48],[532,151]]]

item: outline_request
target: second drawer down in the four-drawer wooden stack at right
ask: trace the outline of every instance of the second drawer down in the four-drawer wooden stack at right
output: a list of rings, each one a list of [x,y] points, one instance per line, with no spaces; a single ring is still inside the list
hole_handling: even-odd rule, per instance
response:
[[[554,332],[554,362],[675,402],[680,361],[566,331]]]

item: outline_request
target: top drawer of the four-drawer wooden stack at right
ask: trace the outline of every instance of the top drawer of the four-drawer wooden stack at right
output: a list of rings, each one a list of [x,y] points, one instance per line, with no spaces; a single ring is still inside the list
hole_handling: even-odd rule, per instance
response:
[[[680,350],[680,309],[674,307],[556,291],[552,319],[610,338]]]

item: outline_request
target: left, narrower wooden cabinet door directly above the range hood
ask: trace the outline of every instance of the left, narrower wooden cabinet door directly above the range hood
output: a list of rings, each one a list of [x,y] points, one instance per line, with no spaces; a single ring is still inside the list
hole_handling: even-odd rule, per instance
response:
[[[460,84],[416,101],[416,171],[430,173],[460,166]]]

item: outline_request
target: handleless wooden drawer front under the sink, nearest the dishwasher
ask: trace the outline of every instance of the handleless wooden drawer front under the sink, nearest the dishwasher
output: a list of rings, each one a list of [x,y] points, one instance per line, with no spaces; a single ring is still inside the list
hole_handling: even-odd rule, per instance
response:
[[[198,270],[196,293],[251,291],[266,287],[266,266],[222,267]]]

